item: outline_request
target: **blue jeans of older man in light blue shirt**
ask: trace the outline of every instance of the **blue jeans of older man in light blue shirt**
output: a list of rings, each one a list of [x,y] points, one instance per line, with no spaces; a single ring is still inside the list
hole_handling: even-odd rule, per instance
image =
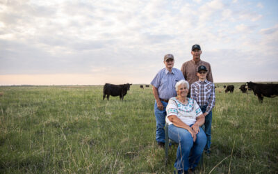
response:
[[[156,141],[165,143],[165,117],[167,102],[161,101],[163,104],[163,111],[159,110],[156,102],[154,102],[154,116],[156,116]]]

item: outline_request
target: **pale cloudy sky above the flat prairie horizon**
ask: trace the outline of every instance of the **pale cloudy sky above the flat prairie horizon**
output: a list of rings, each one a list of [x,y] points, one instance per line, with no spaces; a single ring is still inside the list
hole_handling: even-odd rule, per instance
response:
[[[150,84],[195,44],[214,82],[278,81],[278,1],[0,0],[0,86]]]

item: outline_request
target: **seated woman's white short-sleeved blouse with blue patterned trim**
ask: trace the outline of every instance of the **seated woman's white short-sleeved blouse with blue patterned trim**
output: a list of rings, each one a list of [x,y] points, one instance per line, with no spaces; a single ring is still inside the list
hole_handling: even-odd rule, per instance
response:
[[[168,119],[168,116],[177,116],[186,125],[192,125],[196,122],[196,118],[202,115],[202,110],[199,108],[197,102],[191,98],[187,98],[188,103],[183,104],[177,100],[176,97],[172,97],[166,107],[166,122],[172,125],[172,122]]]

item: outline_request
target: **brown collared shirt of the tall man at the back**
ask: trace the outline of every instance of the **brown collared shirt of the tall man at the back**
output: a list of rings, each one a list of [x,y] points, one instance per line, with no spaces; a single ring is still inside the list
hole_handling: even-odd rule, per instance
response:
[[[208,79],[208,81],[213,82],[211,65],[209,63],[205,61],[199,61],[198,63],[196,63],[194,60],[190,60],[183,63],[183,65],[181,66],[181,72],[183,73],[183,76],[186,79],[186,81],[188,81],[189,86],[191,86],[191,84],[193,84],[195,81],[199,80],[199,77],[197,77],[197,71],[200,65],[206,66],[206,69],[208,70],[208,74],[206,74],[206,79]]]

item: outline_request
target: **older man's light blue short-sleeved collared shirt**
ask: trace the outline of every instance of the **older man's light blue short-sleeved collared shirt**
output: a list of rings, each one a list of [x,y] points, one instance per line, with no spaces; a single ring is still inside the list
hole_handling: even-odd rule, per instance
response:
[[[172,68],[172,72],[169,72],[166,68],[163,68],[156,74],[151,84],[157,88],[158,97],[168,100],[177,96],[175,85],[180,80],[184,80],[180,70]]]

